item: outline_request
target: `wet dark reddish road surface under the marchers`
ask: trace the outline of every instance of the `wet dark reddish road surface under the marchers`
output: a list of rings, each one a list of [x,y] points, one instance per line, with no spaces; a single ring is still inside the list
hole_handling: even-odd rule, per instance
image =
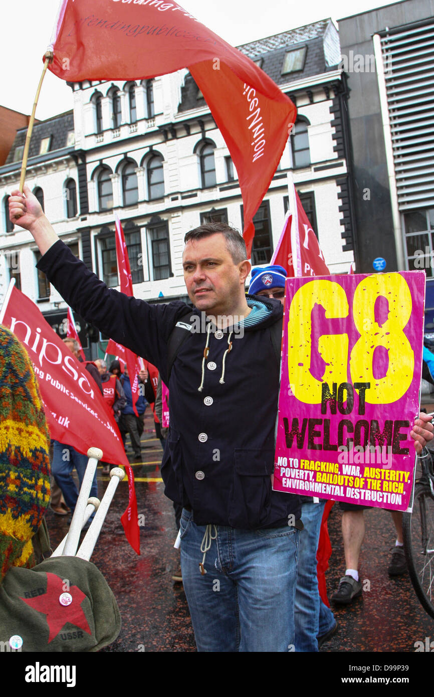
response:
[[[128,444],[128,441],[127,441]],[[128,453],[132,461],[132,453]],[[194,634],[183,586],[171,576],[180,566],[175,517],[164,496],[160,477],[162,447],[155,437],[148,409],[142,436],[142,463],[134,463],[141,556],[125,539],[121,515],[128,499],[127,481],[119,484],[91,561],[114,592],[122,618],[118,638],[102,652],[194,652]],[[109,481],[98,468],[100,497]],[[47,512],[52,547],[68,530],[68,520]],[[408,574],[387,574],[390,548],[395,543],[392,516],[383,510],[365,511],[366,535],[359,576],[366,590],[350,606],[336,608],[339,629],[321,652],[414,652],[416,641],[434,641],[434,619],[414,594]],[[330,595],[345,574],[341,512],[332,508],[329,519],[333,553],[327,571]],[[369,589],[369,590],[367,590]]]

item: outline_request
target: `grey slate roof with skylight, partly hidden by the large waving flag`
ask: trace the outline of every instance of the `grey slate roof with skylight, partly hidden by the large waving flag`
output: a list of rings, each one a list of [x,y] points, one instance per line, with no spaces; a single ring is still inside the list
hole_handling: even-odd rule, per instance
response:
[[[287,84],[303,77],[319,75],[331,69],[330,66],[327,66],[324,52],[324,35],[330,22],[331,20],[320,20],[313,22],[313,24],[299,26],[297,29],[290,29],[274,36],[243,44],[238,46],[238,49],[249,56],[252,61],[262,59],[260,67],[277,85]],[[339,53],[337,32],[336,38],[332,36],[330,40],[336,43],[335,49]],[[281,69],[286,52],[303,46],[307,47],[303,70],[282,75]],[[186,75],[184,85],[181,88],[178,112],[204,107],[206,102],[203,98],[197,99],[198,93],[199,87],[194,82],[192,75]]]

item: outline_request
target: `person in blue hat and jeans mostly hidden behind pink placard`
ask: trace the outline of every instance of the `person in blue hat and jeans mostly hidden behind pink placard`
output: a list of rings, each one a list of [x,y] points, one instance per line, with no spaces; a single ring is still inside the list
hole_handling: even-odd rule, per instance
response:
[[[283,266],[256,266],[251,270],[249,294],[275,298],[284,305],[286,270]],[[316,553],[320,537],[325,499],[313,503],[311,496],[300,496],[302,521],[298,549],[297,585],[295,587],[295,651],[318,651],[332,638],[337,622],[318,592]]]

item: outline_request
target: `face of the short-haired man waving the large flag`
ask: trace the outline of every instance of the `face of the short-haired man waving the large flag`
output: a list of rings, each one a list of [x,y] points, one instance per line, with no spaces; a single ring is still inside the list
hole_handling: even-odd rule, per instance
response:
[[[233,263],[220,233],[189,240],[183,268],[189,299],[203,312],[228,314],[244,296],[245,265]]]

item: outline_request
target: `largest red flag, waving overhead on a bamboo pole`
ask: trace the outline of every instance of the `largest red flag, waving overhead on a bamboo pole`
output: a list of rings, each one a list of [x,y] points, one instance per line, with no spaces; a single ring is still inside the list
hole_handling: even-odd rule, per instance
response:
[[[250,256],[252,218],[296,113],[272,79],[180,5],[163,0],[63,0],[53,49],[49,70],[68,82],[190,70],[238,172]]]

